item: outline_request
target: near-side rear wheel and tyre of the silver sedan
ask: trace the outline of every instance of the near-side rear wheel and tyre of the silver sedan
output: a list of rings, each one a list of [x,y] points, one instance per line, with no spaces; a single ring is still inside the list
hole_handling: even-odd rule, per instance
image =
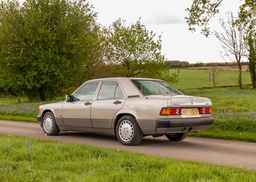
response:
[[[140,144],[143,133],[136,119],[126,115],[117,121],[116,137],[119,142],[125,146],[135,146]]]

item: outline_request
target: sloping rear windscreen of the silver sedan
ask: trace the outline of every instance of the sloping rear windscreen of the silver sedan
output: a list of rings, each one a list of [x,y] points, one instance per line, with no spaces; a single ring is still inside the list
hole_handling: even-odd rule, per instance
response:
[[[159,80],[132,80],[135,86],[143,95],[182,95],[177,89],[173,88],[164,81]]]

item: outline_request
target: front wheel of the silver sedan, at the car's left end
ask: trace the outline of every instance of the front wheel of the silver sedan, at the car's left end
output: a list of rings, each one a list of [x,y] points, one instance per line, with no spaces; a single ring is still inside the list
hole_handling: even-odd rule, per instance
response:
[[[42,120],[42,126],[46,135],[58,135],[60,129],[56,124],[54,115],[52,112],[46,112]]]

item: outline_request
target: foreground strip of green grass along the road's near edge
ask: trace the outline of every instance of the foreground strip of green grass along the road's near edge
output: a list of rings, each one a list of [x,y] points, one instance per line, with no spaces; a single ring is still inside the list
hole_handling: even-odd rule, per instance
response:
[[[256,181],[256,171],[0,135],[0,181]]]

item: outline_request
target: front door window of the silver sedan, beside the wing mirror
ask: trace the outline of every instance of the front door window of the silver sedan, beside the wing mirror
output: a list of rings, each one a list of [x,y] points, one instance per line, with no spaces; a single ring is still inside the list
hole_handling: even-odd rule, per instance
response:
[[[85,84],[81,89],[79,89],[75,94],[73,101],[79,100],[93,100],[93,96],[95,95],[95,91],[99,85],[99,82],[92,82]]]

